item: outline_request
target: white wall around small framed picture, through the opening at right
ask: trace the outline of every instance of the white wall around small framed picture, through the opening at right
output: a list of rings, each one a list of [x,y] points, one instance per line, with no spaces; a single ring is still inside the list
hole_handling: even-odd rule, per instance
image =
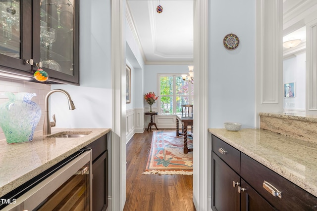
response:
[[[306,53],[283,61],[283,83],[295,82],[295,97],[283,99],[283,108],[291,111],[306,110]]]

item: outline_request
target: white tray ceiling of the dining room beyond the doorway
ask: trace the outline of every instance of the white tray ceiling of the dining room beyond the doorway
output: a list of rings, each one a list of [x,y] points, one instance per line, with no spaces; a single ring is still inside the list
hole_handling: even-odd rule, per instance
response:
[[[146,64],[193,62],[193,0],[127,0],[127,22]],[[163,7],[157,13],[158,5]]]

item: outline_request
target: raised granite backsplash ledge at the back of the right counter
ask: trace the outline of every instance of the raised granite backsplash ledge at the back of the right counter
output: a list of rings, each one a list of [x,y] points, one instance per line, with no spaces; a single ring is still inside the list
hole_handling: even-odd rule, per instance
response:
[[[260,128],[317,143],[317,116],[296,113],[260,113]]]

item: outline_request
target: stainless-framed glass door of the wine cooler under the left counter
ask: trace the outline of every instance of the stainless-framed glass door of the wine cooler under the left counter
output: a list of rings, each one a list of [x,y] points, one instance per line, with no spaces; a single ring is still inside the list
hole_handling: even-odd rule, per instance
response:
[[[20,196],[15,200],[14,204],[10,204],[7,207],[4,208],[4,210],[8,211],[34,211],[34,210],[46,210],[45,206],[46,204],[52,203],[52,200],[54,203],[54,206],[56,206],[56,197],[60,198],[60,192],[64,193],[65,190],[61,190],[61,188],[71,185],[78,185],[73,179],[74,177],[78,175],[83,175],[81,177],[84,177],[84,181],[88,179],[88,183],[81,182],[81,183],[87,183],[85,185],[82,185],[80,187],[81,195],[83,195],[83,192],[86,192],[84,196],[81,196],[84,199],[81,199],[80,203],[82,204],[84,210],[92,211],[92,150],[88,149],[81,155],[79,155],[77,158],[66,164],[65,166],[61,167],[57,171],[55,171],[51,176],[34,186],[32,189],[30,189],[28,192]],[[81,179],[79,179],[81,180]],[[73,184],[70,184],[73,183]],[[76,183],[76,184],[75,184]],[[88,187],[87,187],[88,186]],[[61,191],[60,191],[61,190]],[[59,191],[59,192],[58,192]],[[66,191],[69,191],[68,195],[73,195],[75,198],[79,198],[78,194],[74,194],[71,192],[69,188],[67,188]],[[88,196],[88,198],[87,198]],[[69,205],[70,201],[74,201],[74,198],[69,198],[65,201],[66,197],[63,197],[61,199],[57,199],[62,201],[58,206],[64,206]],[[77,200],[77,199],[76,199]],[[78,200],[79,201],[79,200]],[[76,202],[76,201],[75,201]],[[75,203],[74,203],[75,204]],[[76,206],[77,206],[76,204]],[[51,205],[49,204],[50,209],[53,209]],[[63,210],[67,210],[65,208],[62,208]],[[80,209],[83,210],[83,209]]]

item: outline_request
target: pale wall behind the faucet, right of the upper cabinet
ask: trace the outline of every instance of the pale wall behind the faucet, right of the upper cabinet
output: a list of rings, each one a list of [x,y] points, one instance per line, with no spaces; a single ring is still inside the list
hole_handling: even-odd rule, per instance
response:
[[[80,1],[80,86],[52,85],[68,91],[76,109],[53,93],[56,127],[112,127],[110,8],[109,0]]]

